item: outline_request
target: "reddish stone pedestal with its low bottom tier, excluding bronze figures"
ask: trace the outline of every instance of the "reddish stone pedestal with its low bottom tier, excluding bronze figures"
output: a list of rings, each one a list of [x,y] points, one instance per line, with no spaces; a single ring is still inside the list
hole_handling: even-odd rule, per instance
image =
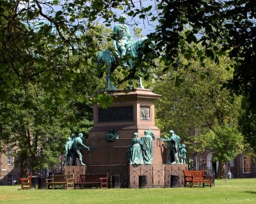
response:
[[[160,130],[155,125],[154,102],[160,95],[146,89],[109,91],[113,103],[106,109],[99,104],[93,105],[93,128],[89,132],[85,145],[93,146],[93,151],[83,150],[83,162],[86,166],[65,166],[65,172],[108,173],[120,176],[122,187],[139,187],[139,176],[147,176],[147,187],[170,187],[170,175],[179,175],[182,182],[182,170],[186,164],[166,164],[166,147],[159,141]],[[154,160],[150,165],[130,165],[125,154],[138,132],[139,138],[144,131],[151,129],[156,139],[153,142]],[[115,130],[120,136],[113,142],[106,141],[106,134]],[[77,172],[77,173],[76,173]]]

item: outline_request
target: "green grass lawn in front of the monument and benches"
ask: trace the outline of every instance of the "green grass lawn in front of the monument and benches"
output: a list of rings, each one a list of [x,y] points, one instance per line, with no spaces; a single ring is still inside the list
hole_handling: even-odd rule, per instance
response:
[[[76,189],[20,190],[20,185],[0,186],[0,203],[256,203],[256,178],[215,180],[210,187],[177,189]]]

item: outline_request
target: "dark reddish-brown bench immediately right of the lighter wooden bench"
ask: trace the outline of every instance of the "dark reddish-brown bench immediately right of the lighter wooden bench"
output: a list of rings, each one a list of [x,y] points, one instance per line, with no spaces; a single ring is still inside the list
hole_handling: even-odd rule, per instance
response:
[[[74,179],[74,185],[79,185],[80,189],[83,185],[99,185],[100,189],[104,186],[108,189],[108,173],[80,175]]]

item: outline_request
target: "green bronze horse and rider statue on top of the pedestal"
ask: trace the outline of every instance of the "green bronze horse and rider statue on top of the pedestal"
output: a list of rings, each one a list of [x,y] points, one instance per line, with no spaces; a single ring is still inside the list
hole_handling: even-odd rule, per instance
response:
[[[140,38],[136,41],[132,38],[127,25],[125,25],[126,17],[122,15],[120,17],[120,24],[116,24],[113,33],[116,39],[113,40],[113,48],[115,52],[111,52],[110,49],[99,51],[97,54],[96,67],[99,67],[99,63],[106,66],[106,90],[115,90],[115,86],[111,82],[111,73],[118,66],[118,59],[123,59],[125,55],[130,56],[127,62],[122,66],[129,67],[129,70],[134,68],[133,58],[139,58],[141,50],[145,47],[147,38]],[[110,86],[110,87],[109,87]],[[132,86],[130,86],[132,88]],[[140,77],[140,88],[144,88]]]

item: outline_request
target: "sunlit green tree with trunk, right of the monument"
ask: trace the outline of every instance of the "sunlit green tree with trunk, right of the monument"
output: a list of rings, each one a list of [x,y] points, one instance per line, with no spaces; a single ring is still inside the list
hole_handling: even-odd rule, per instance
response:
[[[223,88],[223,83],[233,75],[232,68],[225,68],[227,63],[231,64],[228,57],[221,57],[219,65],[205,59],[202,67],[196,60],[201,49],[202,46],[197,45],[191,52],[195,59],[190,61],[180,54],[181,62],[188,67],[163,75],[157,81],[154,91],[162,97],[156,102],[156,122],[164,133],[177,132],[190,153],[211,150],[212,159],[220,162],[218,175],[223,175],[227,159],[236,156],[234,148],[237,146],[237,154],[243,148],[243,137],[237,130],[241,98],[232,97],[230,91]],[[237,135],[236,141],[232,141],[234,135]]]

